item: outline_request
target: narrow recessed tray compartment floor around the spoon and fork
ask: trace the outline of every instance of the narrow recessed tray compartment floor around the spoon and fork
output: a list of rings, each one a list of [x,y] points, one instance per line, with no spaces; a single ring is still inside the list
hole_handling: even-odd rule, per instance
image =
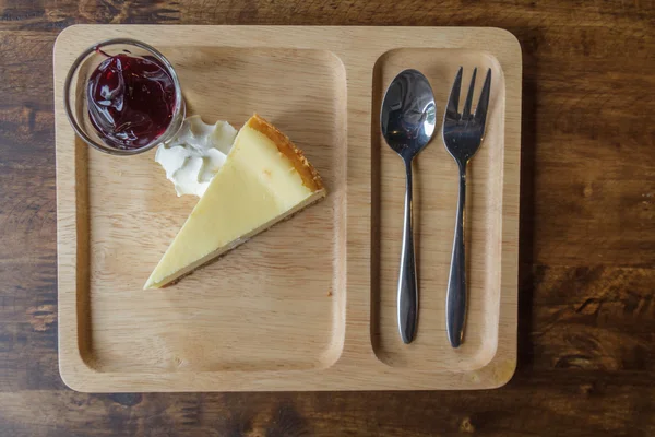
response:
[[[485,141],[471,161],[466,198],[466,274],[468,307],[465,341],[451,347],[445,333],[445,291],[457,204],[457,166],[443,146],[441,125],[445,102],[460,66],[464,86],[475,67],[480,79],[492,71],[492,94]],[[438,130],[417,156],[415,166],[415,244],[419,283],[419,329],[410,345],[402,342],[396,323],[398,260],[402,243],[405,170],[381,134],[372,137],[373,271],[372,342],[377,356],[393,367],[420,370],[466,369],[485,366],[496,354],[500,309],[502,251],[504,78],[498,60],[475,50],[401,48],[382,55],[373,71],[372,121],[379,120],[386,86],[402,70],[414,68],[430,81],[437,101]]]

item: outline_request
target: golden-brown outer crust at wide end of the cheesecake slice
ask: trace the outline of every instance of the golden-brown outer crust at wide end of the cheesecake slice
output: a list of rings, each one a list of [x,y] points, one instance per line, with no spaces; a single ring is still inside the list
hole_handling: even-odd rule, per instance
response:
[[[294,165],[298,175],[302,179],[302,185],[309,188],[311,191],[320,191],[324,190],[323,180],[321,176],[310,164],[309,161],[305,157],[302,151],[289,140],[287,135],[282,133],[277,128],[266,121],[264,118],[260,117],[258,114],[254,114],[250,119],[246,122],[251,129],[257,130],[260,133],[269,137],[271,141],[275,143],[279,153],[284,154]]]

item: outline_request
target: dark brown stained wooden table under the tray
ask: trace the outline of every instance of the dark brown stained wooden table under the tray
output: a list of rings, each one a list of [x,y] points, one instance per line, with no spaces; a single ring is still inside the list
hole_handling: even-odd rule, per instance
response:
[[[57,368],[51,51],[74,23],[504,27],[524,56],[519,368],[484,392],[83,394]],[[655,435],[655,4],[0,0],[0,435]]]

